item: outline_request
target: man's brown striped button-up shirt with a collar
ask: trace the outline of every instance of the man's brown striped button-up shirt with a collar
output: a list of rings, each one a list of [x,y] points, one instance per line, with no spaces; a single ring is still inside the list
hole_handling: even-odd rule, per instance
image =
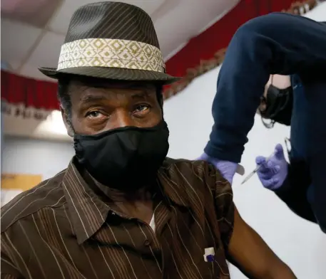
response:
[[[174,159],[158,181],[154,232],[114,211],[71,161],[1,209],[1,278],[230,278],[230,184],[205,162]]]

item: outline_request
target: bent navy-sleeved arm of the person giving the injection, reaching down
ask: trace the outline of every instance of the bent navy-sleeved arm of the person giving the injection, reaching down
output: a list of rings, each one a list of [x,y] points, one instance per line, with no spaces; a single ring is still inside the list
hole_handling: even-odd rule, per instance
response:
[[[272,13],[241,26],[218,75],[205,153],[240,162],[270,74],[325,73],[325,46],[326,25],[302,16]]]

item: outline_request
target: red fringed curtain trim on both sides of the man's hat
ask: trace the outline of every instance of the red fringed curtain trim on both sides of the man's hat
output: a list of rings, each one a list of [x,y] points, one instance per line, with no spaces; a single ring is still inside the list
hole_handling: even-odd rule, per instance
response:
[[[296,3],[295,6],[293,6],[293,2]],[[304,2],[308,3],[310,7],[315,5],[315,0]],[[213,26],[203,31],[203,33],[190,39],[183,49],[166,62],[166,67],[170,75],[185,78],[180,80],[178,84],[172,85],[171,88],[165,88],[165,92],[168,89],[170,90],[169,95],[165,95],[165,98],[178,93],[193,78],[200,75],[198,65],[203,60],[212,59],[218,51],[226,48],[235,31],[243,23],[256,16],[268,14],[272,11],[286,11],[290,9],[291,5],[292,12],[295,12],[299,10],[297,9],[299,6],[303,6],[303,3],[302,1],[297,2],[293,0],[241,0],[232,11],[213,24]],[[213,67],[218,65],[216,62],[214,63],[215,65]],[[210,68],[213,67],[210,66]],[[193,70],[192,78],[186,77],[186,73],[189,70]],[[7,102],[14,104],[23,103],[26,107],[57,110],[58,101],[56,99],[56,93],[56,83],[24,78],[1,70],[1,98]]]

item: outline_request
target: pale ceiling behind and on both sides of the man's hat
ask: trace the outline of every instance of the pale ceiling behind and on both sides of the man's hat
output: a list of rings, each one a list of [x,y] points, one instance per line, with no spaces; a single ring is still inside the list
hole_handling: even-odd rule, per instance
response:
[[[129,0],[151,15],[163,56],[169,58],[240,0]],[[2,0],[1,62],[31,78],[49,80],[39,66],[54,67],[73,11],[94,0]]]

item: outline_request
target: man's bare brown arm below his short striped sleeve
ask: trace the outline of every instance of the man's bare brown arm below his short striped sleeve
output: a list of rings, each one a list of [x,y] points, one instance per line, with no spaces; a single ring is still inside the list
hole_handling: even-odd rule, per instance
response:
[[[228,259],[248,278],[295,279],[292,270],[277,258],[258,233],[234,211],[233,234],[228,246]]]

